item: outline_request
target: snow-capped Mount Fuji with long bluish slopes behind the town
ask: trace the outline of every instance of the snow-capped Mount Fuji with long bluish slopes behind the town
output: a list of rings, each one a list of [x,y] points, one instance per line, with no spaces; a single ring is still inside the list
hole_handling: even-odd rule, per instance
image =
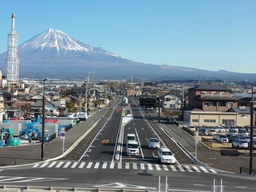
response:
[[[0,54],[5,69],[7,52]],[[93,47],[66,33],[47,29],[18,46],[20,77],[85,77],[95,72],[100,78],[150,77],[150,79],[220,79],[256,80],[256,74],[210,71],[188,67],[134,62]]]

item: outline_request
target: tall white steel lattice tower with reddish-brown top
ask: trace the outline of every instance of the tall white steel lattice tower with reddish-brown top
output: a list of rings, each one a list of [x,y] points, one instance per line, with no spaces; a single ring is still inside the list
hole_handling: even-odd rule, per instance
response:
[[[19,81],[18,35],[15,32],[15,14],[12,14],[12,29],[8,34],[8,47],[6,58],[7,80]]]

